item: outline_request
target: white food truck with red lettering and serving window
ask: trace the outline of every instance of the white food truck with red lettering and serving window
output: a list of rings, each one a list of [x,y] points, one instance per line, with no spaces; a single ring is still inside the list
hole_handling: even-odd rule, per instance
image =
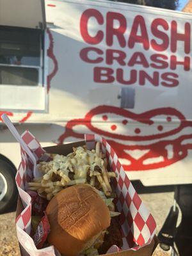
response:
[[[0,120],[43,147],[108,140],[131,180],[192,182],[188,13],[88,0],[0,0]],[[19,143],[0,124],[0,211]]]

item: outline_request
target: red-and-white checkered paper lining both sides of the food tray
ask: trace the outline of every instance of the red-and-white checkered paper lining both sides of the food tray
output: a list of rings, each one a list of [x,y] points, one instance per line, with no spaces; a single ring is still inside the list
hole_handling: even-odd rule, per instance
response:
[[[33,134],[26,131],[22,134],[22,138],[31,152],[33,152],[37,163],[38,161],[50,160]],[[110,147],[107,141],[95,134],[86,134],[85,141],[87,147],[90,149],[95,147],[97,141],[100,142],[102,152],[106,153],[108,157],[111,170],[118,175],[114,186],[117,195],[116,206],[118,211],[121,212],[120,224],[124,241],[122,250],[138,250],[152,241],[156,230],[156,222],[145,205],[143,205],[143,202],[134,190],[130,180],[127,175],[125,175],[124,169],[118,161],[115,151]],[[53,246],[41,250],[36,249],[33,239],[29,236],[31,232],[31,197],[26,192],[26,189],[28,188],[28,182],[33,179],[33,163],[22,148],[20,153],[21,163],[15,180],[22,205],[24,206],[24,210],[16,219],[17,237],[22,246],[22,255],[60,256],[60,253]]]

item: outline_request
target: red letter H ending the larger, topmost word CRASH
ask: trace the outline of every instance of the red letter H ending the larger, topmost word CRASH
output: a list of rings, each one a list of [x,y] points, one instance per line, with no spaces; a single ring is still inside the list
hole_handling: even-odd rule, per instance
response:
[[[191,38],[191,26],[189,22],[185,23],[185,32],[184,34],[177,33],[177,22],[172,21],[172,30],[171,30],[171,51],[177,51],[177,41],[184,42],[184,52],[188,54],[190,52],[190,38]]]

